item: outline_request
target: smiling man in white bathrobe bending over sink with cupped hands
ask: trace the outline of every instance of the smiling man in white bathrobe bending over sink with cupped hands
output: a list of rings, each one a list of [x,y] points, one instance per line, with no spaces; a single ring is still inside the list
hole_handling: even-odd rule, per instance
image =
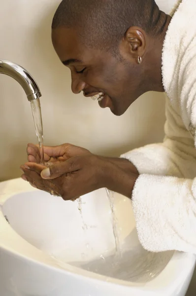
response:
[[[166,15],[154,0],[63,0],[52,41],[71,71],[72,91],[123,114],[147,91],[166,92],[165,139],[106,158],[62,145],[28,145],[24,180],[75,199],[100,187],[132,199],[138,237],[149,251],[196,253],[196,4]]]

